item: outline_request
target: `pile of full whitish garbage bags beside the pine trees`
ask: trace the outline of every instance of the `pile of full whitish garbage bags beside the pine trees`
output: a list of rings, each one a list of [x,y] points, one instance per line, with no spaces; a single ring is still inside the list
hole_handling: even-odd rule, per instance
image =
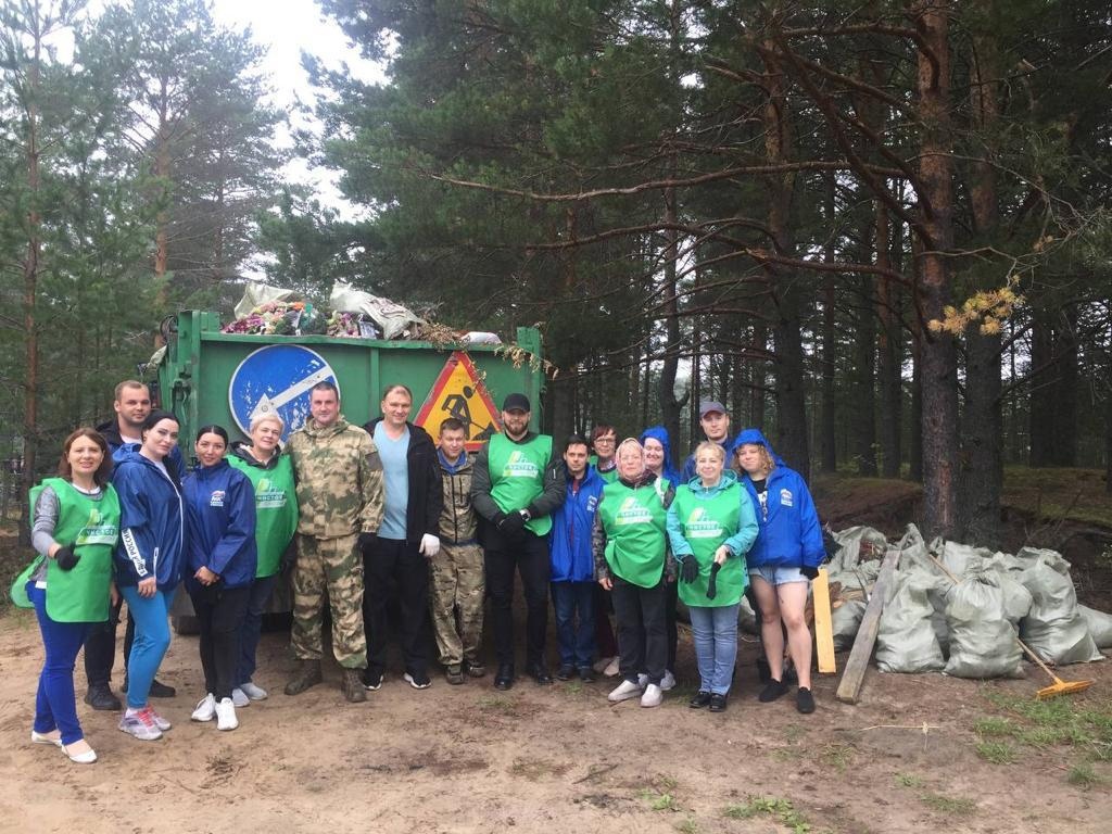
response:
[[[833,537],[834,643],[845,649],[890,545],[868,527]],[[941,538],[927,545],[914,525],[901,544],[876,636],[882,672],[1022,677],[1016,637],[1056,665],[1103,659],[1100,649],[1112,647],[1112,615],[1078,604],[1070,563],[1054,550],[1024,547],[1013,555]]]

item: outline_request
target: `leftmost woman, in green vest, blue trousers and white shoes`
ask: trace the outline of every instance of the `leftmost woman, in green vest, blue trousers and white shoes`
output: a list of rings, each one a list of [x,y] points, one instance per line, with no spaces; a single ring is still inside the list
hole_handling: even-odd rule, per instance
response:
[[[109,483],[108,441],[98,431],[79,428],[62,449],[60,477],[31,490],[31,544],[39,559],[17,579],[34,605],[47,654],[31,741],[61,747],[71,762],[92,764],[97,754],[77,719],[73,662],[89,628],[108,619],[116,595],[112,548],[120,502]]]

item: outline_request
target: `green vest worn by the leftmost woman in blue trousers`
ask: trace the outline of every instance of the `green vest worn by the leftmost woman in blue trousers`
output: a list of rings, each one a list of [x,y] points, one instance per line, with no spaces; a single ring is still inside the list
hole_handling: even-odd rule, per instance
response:
[[[47,478],[31,489],[32,515],[47,486],[58,496],[53,539],[60,545],[72,544],[73,553],[81,557],[72,570],[62,570],[53,559],[47,559],[47,614],[56,623],[103,623],[108,619],[112,549],[120,537],[120,499],[111,484],[96,500],[63,478]],[[31,607],[26,586],[43,558],[36,558],[12,584],[17,605]]]

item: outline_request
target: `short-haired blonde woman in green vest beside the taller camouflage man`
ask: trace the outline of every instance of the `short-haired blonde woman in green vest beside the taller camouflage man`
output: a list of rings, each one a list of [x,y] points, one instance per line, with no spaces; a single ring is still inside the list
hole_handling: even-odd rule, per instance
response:
[[[255,417],[248,433],[251,441],[234,445],[228,455],[228,463],[244,473],[255,488],[255,544],[259,549],[259,563],[240,632],[236,672],[239,685],[231,693],[236,706],[247,706],[251,701],[267,697],[267,691],[251,682],[262,632],[262,614],[279,569],[287,567],[284,559],[294,557],[290,542],[297,529],[297,492],[294,466],[279,446],[285,429],[286,424],[277,414]]]

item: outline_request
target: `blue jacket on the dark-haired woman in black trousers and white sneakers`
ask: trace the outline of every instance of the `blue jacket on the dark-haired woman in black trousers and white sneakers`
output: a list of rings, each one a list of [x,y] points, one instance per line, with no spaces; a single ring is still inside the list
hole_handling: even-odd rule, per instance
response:
[[[207,567],[219,574],[224,587],[237,588],[255,579],[255,488],[227,460],[193,469],[185,481],[189,513],[186,583],[196,590],[193,574]]]

